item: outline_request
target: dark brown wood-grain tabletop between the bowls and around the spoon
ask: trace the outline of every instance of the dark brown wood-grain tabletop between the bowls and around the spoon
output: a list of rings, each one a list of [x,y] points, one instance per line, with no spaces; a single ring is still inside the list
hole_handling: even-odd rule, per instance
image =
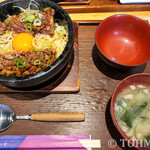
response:
[[[44,112],[85,113],[84,122],[37,122],[16,120],[0,135],[91,135],[101,139],[101,150],[112,150],[108,141],[122,138],[113,125],[110,99],[117,84],[126,76],[150,72],[150,63],[132,70],[116,70],[106,65],[98,56],[95,32],[98,24],[79,26],[80,91],[76,94],[0,94],[0,103],[12,107],[16,115]],[[131,148],[124,148],[125,150]],[[96,150],[96,149],[95,149]]]

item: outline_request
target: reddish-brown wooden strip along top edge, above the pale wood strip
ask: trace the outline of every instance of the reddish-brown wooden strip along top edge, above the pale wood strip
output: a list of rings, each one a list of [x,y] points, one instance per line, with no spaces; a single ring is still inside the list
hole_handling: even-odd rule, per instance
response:
[[[68,13],[149,11],[150,4],[120,4],[119,0],[91,0],[89,5],[63,5]]]

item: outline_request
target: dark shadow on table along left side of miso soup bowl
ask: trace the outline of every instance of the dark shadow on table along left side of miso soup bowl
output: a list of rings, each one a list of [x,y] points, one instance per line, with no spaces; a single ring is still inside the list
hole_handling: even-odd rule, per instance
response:
[[[123,143],[123,141],[121,141],[121,139],[123,139],[123,137],[121,136],[121,134],[118,132],[118,130],[114,126],[112,118],[111,118],[110,101],[111,101],[111,98],[109,99],[109,101],[107,103],[106,112],[105,112],[106,125],[107,125],[107,128],[108,128],[108,131],[109,131],[110,135],[112,136],[112,138],[114,140],[116,140],[118,146],[120,146],[123,150],[137,150],[134,147],[129,147],[127,142]]]

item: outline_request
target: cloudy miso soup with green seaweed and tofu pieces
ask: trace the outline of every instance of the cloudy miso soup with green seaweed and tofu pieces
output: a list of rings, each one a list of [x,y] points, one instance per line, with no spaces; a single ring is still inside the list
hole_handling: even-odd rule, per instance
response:
[[[130,85],[118,95],[114,109],[128,137],[150,140],[150,86]]]

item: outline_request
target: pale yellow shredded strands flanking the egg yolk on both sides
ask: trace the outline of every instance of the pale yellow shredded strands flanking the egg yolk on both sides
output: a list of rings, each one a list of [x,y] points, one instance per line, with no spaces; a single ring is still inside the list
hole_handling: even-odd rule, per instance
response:
[[[6,31],[0,36],[0,54],[14,52],[12,41],[17,33],[14,31]],[[32,40],[32,45],[35,49],[46,49],[53,47],[56,50],[56,58],[58,58],[64,50],[68,40],[67,29],[64,26],[55,23],[54,35],[37,33]]]

